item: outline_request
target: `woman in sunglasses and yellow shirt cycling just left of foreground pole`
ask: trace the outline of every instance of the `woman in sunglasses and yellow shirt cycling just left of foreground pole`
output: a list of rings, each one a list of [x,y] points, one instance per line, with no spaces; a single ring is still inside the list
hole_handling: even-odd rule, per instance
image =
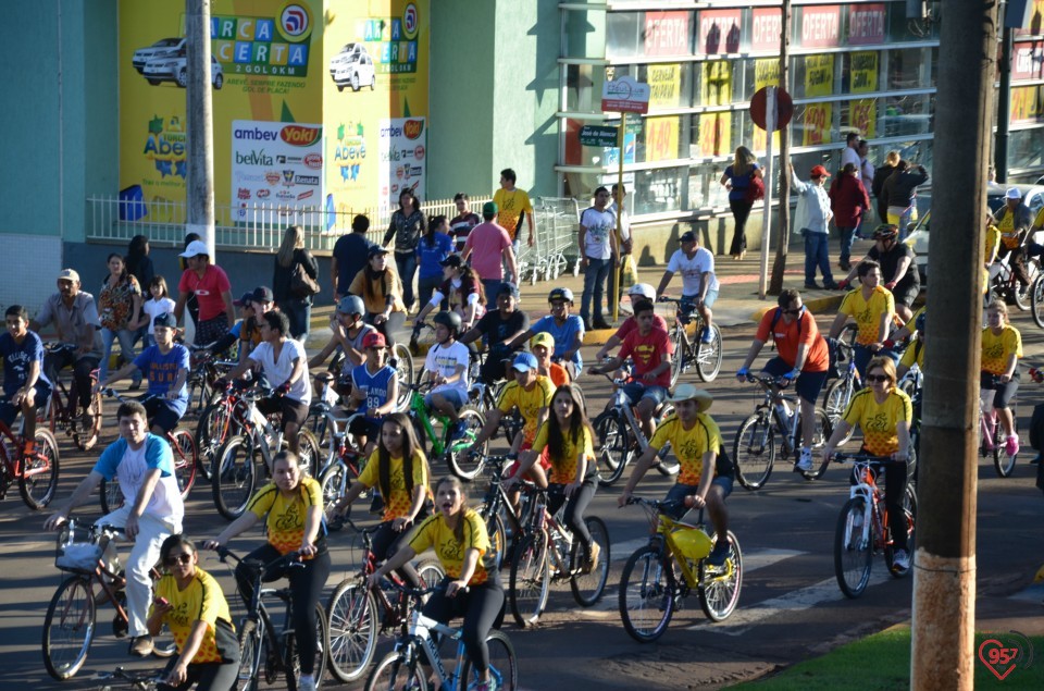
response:
[[[852,398],[844,417],[837,421],[834,433],[830,435],[823,448],[828,460],[834,448],[848,435],[849,430],[859,425],[862,430],[862,448],[859,453],[873,456],[888,456],[891,461],[884,467],[884,504],[892,522],[892,539],[895,542],[893,565],[906,570],[910,568],[907,553],[906,519],[903,515],[903,498],[906,496],[907,476],[910,470],[910,423],[913,420],[913,407],[910,397],[895,385],[895,362],[888,357],[878,356],[867,365],[863,388]],[[853,478],[853,483],[855,478]]]

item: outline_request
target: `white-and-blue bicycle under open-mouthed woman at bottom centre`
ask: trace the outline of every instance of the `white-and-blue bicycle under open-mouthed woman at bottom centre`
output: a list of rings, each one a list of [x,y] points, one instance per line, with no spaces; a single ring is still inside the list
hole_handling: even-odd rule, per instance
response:
[[[413,589],[394,585],[403,594],[420,604],[426,595],[435,592],[437,587]],[[434,634],[434,637],[433,637]],[[438,637],[438,638],[435,638]],[[438,652],[443,640],[457,641],[457,663],[451,673],[446,671],[442,655]],[[489,649],[489,675],[496,681],[498,691],[517,691],[519,688],[519,664],[514,656],[514,646],[506,633],[493,630],[486,637]],[[460,629],[453,629],[439,624],[421,613],[421,607],[413,606],[408,621],[400,626],[396,637],[395,650],[374,667],[366,679],[366,691],[393,691],[409,689],[410,691],[427,691],[427,671],[422,667],[422,657],[427,661],[432,670],[438,676],[436,689],[439,691],[465,691],[478,683],[478,673],[472,671],[472,663],[464,652],[463,641],[460,640]]]

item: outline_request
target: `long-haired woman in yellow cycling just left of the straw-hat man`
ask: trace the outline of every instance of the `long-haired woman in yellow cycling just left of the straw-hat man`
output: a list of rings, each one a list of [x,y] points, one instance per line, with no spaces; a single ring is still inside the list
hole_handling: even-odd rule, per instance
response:
[[[594,430],[584,415],[579,392],[569,384],[555,392],[551,408],[554,412],[547,419],[547,424],[540,425],[532,451],[522,458],[519,471],[508,479],[505,488],[511,489],[522,473],[530,468],[535,469],[537,457],[542,462],[545,457],[548,459],[551,476],[544,483],[548,489],[547,510],[554,515],[562,504],[566,505],[566,525],[584,545],[584,554],[587,555],[584,571],[589,573],[598,567],[601,552],[598,543],[591,539],[591,531],[584,522],[584,511],[595,498],[598,485],[598,468],[592,443]]]

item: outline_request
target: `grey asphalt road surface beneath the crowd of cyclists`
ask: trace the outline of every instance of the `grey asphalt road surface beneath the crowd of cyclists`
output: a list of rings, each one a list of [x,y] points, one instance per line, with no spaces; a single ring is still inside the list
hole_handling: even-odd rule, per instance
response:
[[[1027,316],[1015,317],[1023,334],[1027,361],[1033,363],[1044,351],[1044,333]],[[825,326],[824,321],[821,326]],[[724,330],[722,373],[708,385],[716,396],[711,414],[730,448],[739,422],[760,398],[755,386],[739,384],[732,377],[746,353],[750,331],[749,326]],[[589,350],[593,356],[594,348]],[[588,375],[581,383],[588,403],[600,409],[608,395],[606,380]],[[1044,388],[1023,383],[1019,392],[1023,430],[1033,404],[1042,399]],[[111,441],[115,428],[111,410],[107,412],[104,434]],[[60,443],[59,497],[64,497],[87,472],[97,452],[78,454],[71,442]],[[1042,563],[1040,531],[1033,529],[1040,521],[1041,495],[1033,486],[1034,471],[1026,464],[1032,452],[1024,432],[1023,445],[1027,451],[1011,478],[998,478],[989,459],[979,464],[980,596],[1014,593],[1032,579]],[[436,467],[434,473],[437,477],[444,470]],[[672,482],[651,472],[639,485],[639,493],[660,497]],[[724,622],[711,624],[693,594],[660,641],[638,644],[620,622],[616,584],[626,557],[644,544],[647,522],[637,508],[617,508],[619,488],[599,490],[588,510],[588,515],[608,523],[612,542],[612,568],[602,601],[592,608],[581,608],[568,585],[557,587],[535,629],[520,630],[508,617],[505,630],[521,661],[524,689],[719,688],[819,655],[910,617],[912,580],[887,576],[880,557],[873,565],[871,585],[861,599],[846,600],[837,588],[832,545],[837,515],[848,495],[846,472],[832,466],[823,479],[807,482],[791,472],[788,464],[778,460],[762,490],[747,492],[737,485],[729,499],[731,529],[742,545],[746,570],[736,612]],[[476,494],[480,491],[475,489]],[[97,505],[80,511],[84,518],[99,514]],[[213,509],[206,484],[192,490],[187,514],[186,529],[196,538],[212,535],[225,525]],[[362,514],[356,510],[353,516]],[[41,662],[42,620],[62,575],[53,567],[54,539],[42,532],[44,518],[45,514],[34,514],[22,504],[16,489],[0,503],[0,669],[4,681],[40,690],[96,688],[98,682],[91,682],[90,676],[97,671],[121,664],[136,668],[161,665],[159,661],[129,658],[126,642],[112,636],[111,609],[100,608],[99,630],[84,670],[66,682],[47,676]],[[233,546],[247,550],[260,539],[259,534],[250,535]],[[332,539],[335,570],[331,589],[355,569],[358,551],[352,551],[349,542],[344,534]],[[222,565],[208,562],[204,567],[226,584],[231,582]],[[232,589],[226,592],[231,594]],[[233,600],[229,597],[229,602]],[[382,643],[378,655],[387,645],[386,641]],[[334,686],[328,678],[326,684]],[[268,687],[262,682],[261,688]]]

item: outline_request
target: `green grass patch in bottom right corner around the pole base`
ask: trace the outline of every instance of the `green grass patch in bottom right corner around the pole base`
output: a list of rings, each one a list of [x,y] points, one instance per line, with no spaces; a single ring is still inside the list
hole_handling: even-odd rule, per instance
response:
[[[978,657],[979,644],[989,638],[994,636],[975,633],[977,689],[1044,689],[1044,659],[1040,657],[1044,655],[1044,637],[1030,637],[1033,644],[1032,667],[1018,664],[1003,681]],[[822,657],[798,663],[778,675],[730,688],[747,691],[891,691],[909,687],[910,629],[894,627],[843,645]]]

